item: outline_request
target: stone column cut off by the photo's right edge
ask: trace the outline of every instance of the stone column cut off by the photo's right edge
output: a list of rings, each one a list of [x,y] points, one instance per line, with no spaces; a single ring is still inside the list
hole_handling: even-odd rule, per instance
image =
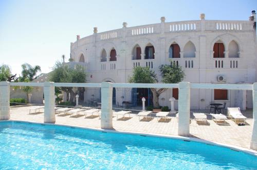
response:
[[[252,150],[257,150],[257,82],[253,83],[252,89],[252,115],[253,115],[253,128],[250,148]]]

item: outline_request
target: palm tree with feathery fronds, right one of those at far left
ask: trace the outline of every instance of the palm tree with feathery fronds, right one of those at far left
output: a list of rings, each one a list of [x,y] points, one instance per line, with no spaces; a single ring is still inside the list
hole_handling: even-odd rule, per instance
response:
[[[29,65],[28,63],[24,63],[22,65],[22,77],[21,81],[25,80],[25,79],[29,79],[30,81],[32,81],[33,79],[35,79],[36,74],[38,72],[41,72],[41,67],[40,66],[35,66],[32,67],[31,65]]]

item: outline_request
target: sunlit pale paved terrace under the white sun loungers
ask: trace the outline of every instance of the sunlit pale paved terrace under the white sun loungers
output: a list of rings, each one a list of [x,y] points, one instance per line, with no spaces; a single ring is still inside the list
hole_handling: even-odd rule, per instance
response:
[[[44,113],[29,114],[31,107],[18,107],[11,108],[10,120],[34,121],[44,122]],[[197,111],[204,112],[204,111]],[[250,147],[251,133],[252,133],[252,110],[242,111],[243,114],[249,118],[246,120],[245,126],[238,126],[232,120],[226,120],[225,124],[217,124],[208,116],[208,123],[202,124],[192,120],[190,124],[191,137],[210,140],[214,142],[221,142],[232,144],[245,148]],[[174,115],[164,121],[157,118],[143,119],[139,121],[136,114],[131,114],[130,119],[113,118],[113,128],[116,131],[139,132],[139,133],[152,133],[161,135],[177,135],[178,134],[178,120]],[[191,115],[191,118],[193,116]],[[101,128],[99,117],[87,117],[84,115],[72,116],[68,114],[56,115],[56,123],[64,125],[83,126],[86,128]]]

